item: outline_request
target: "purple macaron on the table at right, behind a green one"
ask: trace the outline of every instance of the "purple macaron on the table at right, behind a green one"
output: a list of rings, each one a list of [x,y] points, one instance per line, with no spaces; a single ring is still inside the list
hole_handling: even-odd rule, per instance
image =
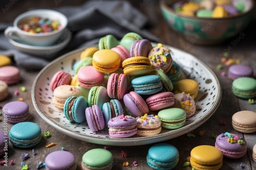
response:
[[[235,80],[239,77],[252,77],[253,75],[253,70],[251,67],[242,65],[242,64],[237,64],[229,67],[228,70],[228,78],[231,80]]]

